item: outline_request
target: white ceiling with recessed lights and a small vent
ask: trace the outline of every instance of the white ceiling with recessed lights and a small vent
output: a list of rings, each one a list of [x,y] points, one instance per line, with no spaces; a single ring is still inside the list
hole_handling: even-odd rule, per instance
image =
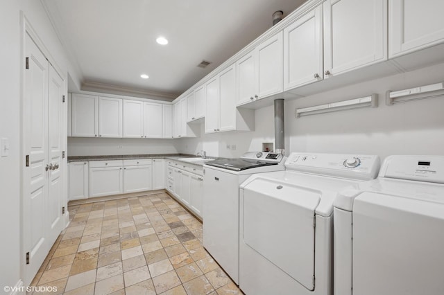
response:
[[[305,0],[43,0],[83,82],[177,96]],[[161,46],[160,35],[169,39]],[[205,69],[197,65],[212,62]],[[142,73],[150,76],[140,78]]]

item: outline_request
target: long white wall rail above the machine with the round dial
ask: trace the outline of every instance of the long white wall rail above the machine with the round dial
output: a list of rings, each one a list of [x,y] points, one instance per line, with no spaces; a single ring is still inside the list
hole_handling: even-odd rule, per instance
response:
[[[299,118],[300,116],[330,113],[332,111],[343,111],[345,109],[357,109],[360,107],[377,107],[377,94],[372,94],[371,96],[366,96],[364,98],[355,98],[327,103],[325,105],[296,109],[296,118]]]

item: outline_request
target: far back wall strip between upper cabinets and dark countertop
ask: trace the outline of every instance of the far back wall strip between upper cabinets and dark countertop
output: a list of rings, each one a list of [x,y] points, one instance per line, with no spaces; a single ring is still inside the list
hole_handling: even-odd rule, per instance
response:
[[[173,139],[143,138],[68,138],[68,157],[114,154],[176,154]]]

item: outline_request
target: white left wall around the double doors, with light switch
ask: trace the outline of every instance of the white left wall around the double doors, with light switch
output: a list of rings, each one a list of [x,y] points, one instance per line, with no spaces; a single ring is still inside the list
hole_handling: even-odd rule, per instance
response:
[[[0,9],[0,53],[2,58],[0,81],[0,138],[9,138],[10,155],[0,157],[0,224],[3,242],[0,251],[0,286],[14,286],[21,279],[20,260],[24,253],[20,239],[20,167],[21,159],[21,118],[20,100],[22,80],[22,40],[20,10],[31,23],[37,35],[44,42],[53,60],[65,72],[71,63],[65,57],[64,49],[51,26],[40,1],[4,0]],[[77,80],[78,75],[73,71]]]

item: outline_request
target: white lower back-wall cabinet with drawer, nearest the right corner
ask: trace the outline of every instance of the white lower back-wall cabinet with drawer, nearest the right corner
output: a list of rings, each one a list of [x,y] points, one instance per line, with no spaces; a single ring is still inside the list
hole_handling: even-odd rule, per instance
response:
[[[123,161],[123,193],[153,190],[153,165],[151,159]]]

